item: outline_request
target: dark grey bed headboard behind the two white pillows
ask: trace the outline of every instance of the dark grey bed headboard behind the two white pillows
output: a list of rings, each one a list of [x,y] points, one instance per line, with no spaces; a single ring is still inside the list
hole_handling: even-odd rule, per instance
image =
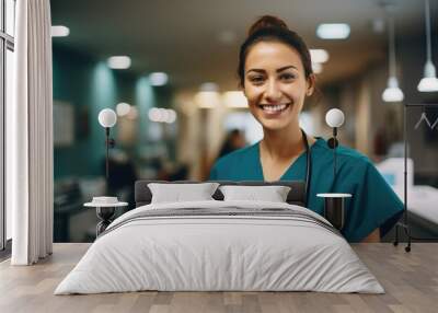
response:
[[[210,181],[212,182],[212,181]],[[246,185],[246,186],[269,186],[269,185],[280,185],[280,186],[289,186],[291,189],[287,197],[287,202],[291,205],[304,206],[304,182],[300,181],[281,181],[281,182],[254,182],[254,181],[244,181],[244,182],[230,182],[230,181],[215,181],[221,185]],[[149,183],[172,183],[172,184],[194,184],[199,182],[194,181],[176,181],[176,182],[165,182],[165,181],[147,181],[140,179],[136,182],[135,185],[135,200],[136,208],[145,205],[149,205],[152,199],[152,194],[148,188]],[[223,200],[222,193],[218,189],[212,197],[216,200]]]

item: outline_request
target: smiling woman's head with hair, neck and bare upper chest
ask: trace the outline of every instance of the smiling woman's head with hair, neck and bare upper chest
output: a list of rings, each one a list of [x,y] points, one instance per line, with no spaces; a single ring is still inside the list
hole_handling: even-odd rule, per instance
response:
[[[304,150],[299,114],[315,81],[309,49],[281,20],[263,16],[241,47],[238,74],[250,111],[264,129],[264,178],[277,181]]]

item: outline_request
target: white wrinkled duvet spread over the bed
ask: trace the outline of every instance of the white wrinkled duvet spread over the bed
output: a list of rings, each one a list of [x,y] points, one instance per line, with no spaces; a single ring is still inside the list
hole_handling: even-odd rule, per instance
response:
[[[160,209],[290,209],[306,219],[188,216],[132,219]],[[273,210],[275,211],[275,210]],[[322,291],[383,293],[328,223],[298,206],[261,201],[155,204],[116,219],[55,294],[159,291]]]

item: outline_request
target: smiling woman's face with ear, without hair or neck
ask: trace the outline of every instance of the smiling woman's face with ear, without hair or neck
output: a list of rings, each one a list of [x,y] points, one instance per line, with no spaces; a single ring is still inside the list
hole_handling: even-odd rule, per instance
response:
[[[261,42],[250,48],[243,91],[250,111],[265,129],[279,130],[299,123],[314,78],[306,79],[298,51],[278,42]]]

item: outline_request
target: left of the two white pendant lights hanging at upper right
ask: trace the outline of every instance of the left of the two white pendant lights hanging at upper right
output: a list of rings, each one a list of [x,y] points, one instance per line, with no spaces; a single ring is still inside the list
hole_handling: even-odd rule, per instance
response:
[[[388,86],[382,93],[382,100],[384,102],[401,102],[404,98],[403,91],[399,88],[399,80],[396,79],[395,70],[395,31],[394,20],[392,16],[389,18],[389,78]]]

